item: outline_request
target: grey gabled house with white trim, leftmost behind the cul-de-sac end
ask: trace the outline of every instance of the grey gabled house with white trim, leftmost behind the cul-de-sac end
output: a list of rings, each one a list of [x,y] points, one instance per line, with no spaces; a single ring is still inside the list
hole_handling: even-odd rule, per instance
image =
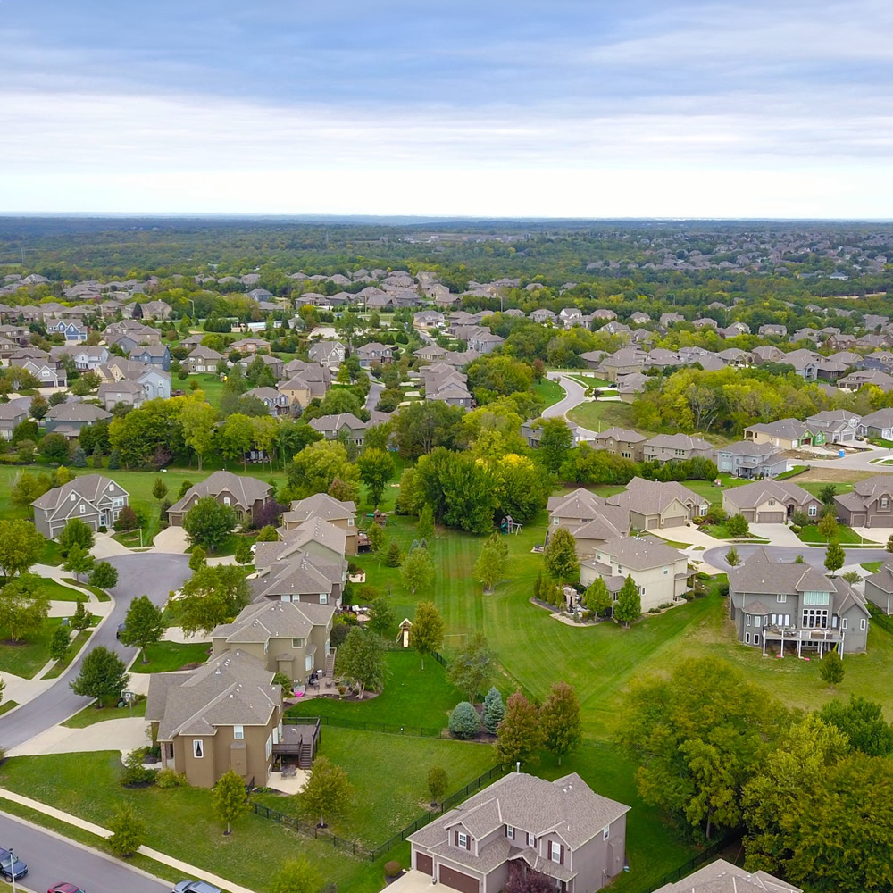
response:
[[[79,518],[91,530],[109,528],[128,500],[127,490],[111,478],[85,474],[62,487],[47,490],[31,503],[34,526],[47,539],[57,537],[71,518]]]

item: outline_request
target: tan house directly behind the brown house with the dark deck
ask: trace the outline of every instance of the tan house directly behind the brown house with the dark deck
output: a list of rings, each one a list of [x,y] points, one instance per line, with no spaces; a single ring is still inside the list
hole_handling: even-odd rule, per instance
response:
[[[304,685],[314,671],[334,663],[329,634],[335,605],[264,599],[242,608],[231,623],[211,633],[213,655],[238,649]]]

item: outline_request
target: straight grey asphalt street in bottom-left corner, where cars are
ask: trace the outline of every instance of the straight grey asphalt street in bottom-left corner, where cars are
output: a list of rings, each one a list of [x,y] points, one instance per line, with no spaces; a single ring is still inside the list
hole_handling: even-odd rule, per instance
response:
[[[12,848],[28,865],[21,883],[37,893],[62,881],[77,884],[88,893],[171,893],[173,887],[173,883],[150,880],[123,862],[67,843],[11,815],[0,814],[0,847]]]

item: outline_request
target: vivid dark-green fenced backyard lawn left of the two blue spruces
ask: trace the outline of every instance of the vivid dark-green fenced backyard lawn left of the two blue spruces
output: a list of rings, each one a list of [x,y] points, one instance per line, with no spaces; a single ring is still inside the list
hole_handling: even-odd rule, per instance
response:
[[[394,726],[446,728],[450,711],[464,698],[449,684],[444,668],[429,659],[425,661],[425,669],[421,670],[421,660],[414,651],[390,651],[387,656],[390,676],[378,697],[362,704],[313,697],[290,708],[288,713]]]

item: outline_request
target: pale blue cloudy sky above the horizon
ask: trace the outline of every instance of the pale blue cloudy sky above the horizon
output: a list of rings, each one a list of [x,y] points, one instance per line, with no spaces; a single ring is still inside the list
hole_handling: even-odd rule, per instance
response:
[[[0,213],[893,217],[891,0],[0,0]]]

